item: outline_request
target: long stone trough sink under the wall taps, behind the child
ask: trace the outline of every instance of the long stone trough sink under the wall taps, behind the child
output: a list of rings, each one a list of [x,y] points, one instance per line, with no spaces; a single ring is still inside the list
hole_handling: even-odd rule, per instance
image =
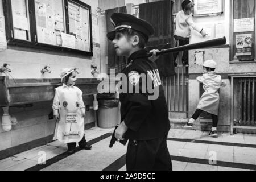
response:
[[[97,94],[99,83],[97,78],[77,79],[76,86],[86,96]],[[60,79],[10,80],[9,76],[0,76],[0,107],[51,101],[55,96],[54,89],[60,85]]]

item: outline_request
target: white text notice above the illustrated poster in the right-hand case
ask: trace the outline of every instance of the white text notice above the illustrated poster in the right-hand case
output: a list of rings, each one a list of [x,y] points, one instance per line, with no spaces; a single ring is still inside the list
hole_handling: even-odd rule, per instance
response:
[[[234,19],[234,32],[253,32],[254,18]]]

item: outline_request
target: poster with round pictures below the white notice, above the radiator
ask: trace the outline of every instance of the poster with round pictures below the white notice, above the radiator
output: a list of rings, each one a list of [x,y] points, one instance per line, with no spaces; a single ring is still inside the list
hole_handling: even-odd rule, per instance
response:
[[[252,34],[236,35],[236,56],[252,55]]]

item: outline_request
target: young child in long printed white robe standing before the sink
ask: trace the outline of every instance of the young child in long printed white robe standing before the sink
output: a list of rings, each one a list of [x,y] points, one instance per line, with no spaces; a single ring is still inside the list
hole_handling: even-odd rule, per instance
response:
[[[74,69],[61,71],[62,86],[55,89],[52,104],[53,115],[56,119],[56,128],[53,140],[67,143],[68,154],[73,154],[76,142],[80,148],[90,150],[84,135],[85,105],[82,100],[82,91],[75,85],[77,73]]]

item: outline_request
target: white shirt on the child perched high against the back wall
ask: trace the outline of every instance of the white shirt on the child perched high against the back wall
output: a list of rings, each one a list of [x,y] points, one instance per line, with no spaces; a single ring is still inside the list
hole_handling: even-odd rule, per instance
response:
[[[187,15],[183,10],[177,13],[176,18],[174,19],[176,25],[175,35],[181,36],[183,38],[189,38],[191,35],[191,29],[201,32],[202,28],[196,27],[196,24],[193,22],[192,15]]]

